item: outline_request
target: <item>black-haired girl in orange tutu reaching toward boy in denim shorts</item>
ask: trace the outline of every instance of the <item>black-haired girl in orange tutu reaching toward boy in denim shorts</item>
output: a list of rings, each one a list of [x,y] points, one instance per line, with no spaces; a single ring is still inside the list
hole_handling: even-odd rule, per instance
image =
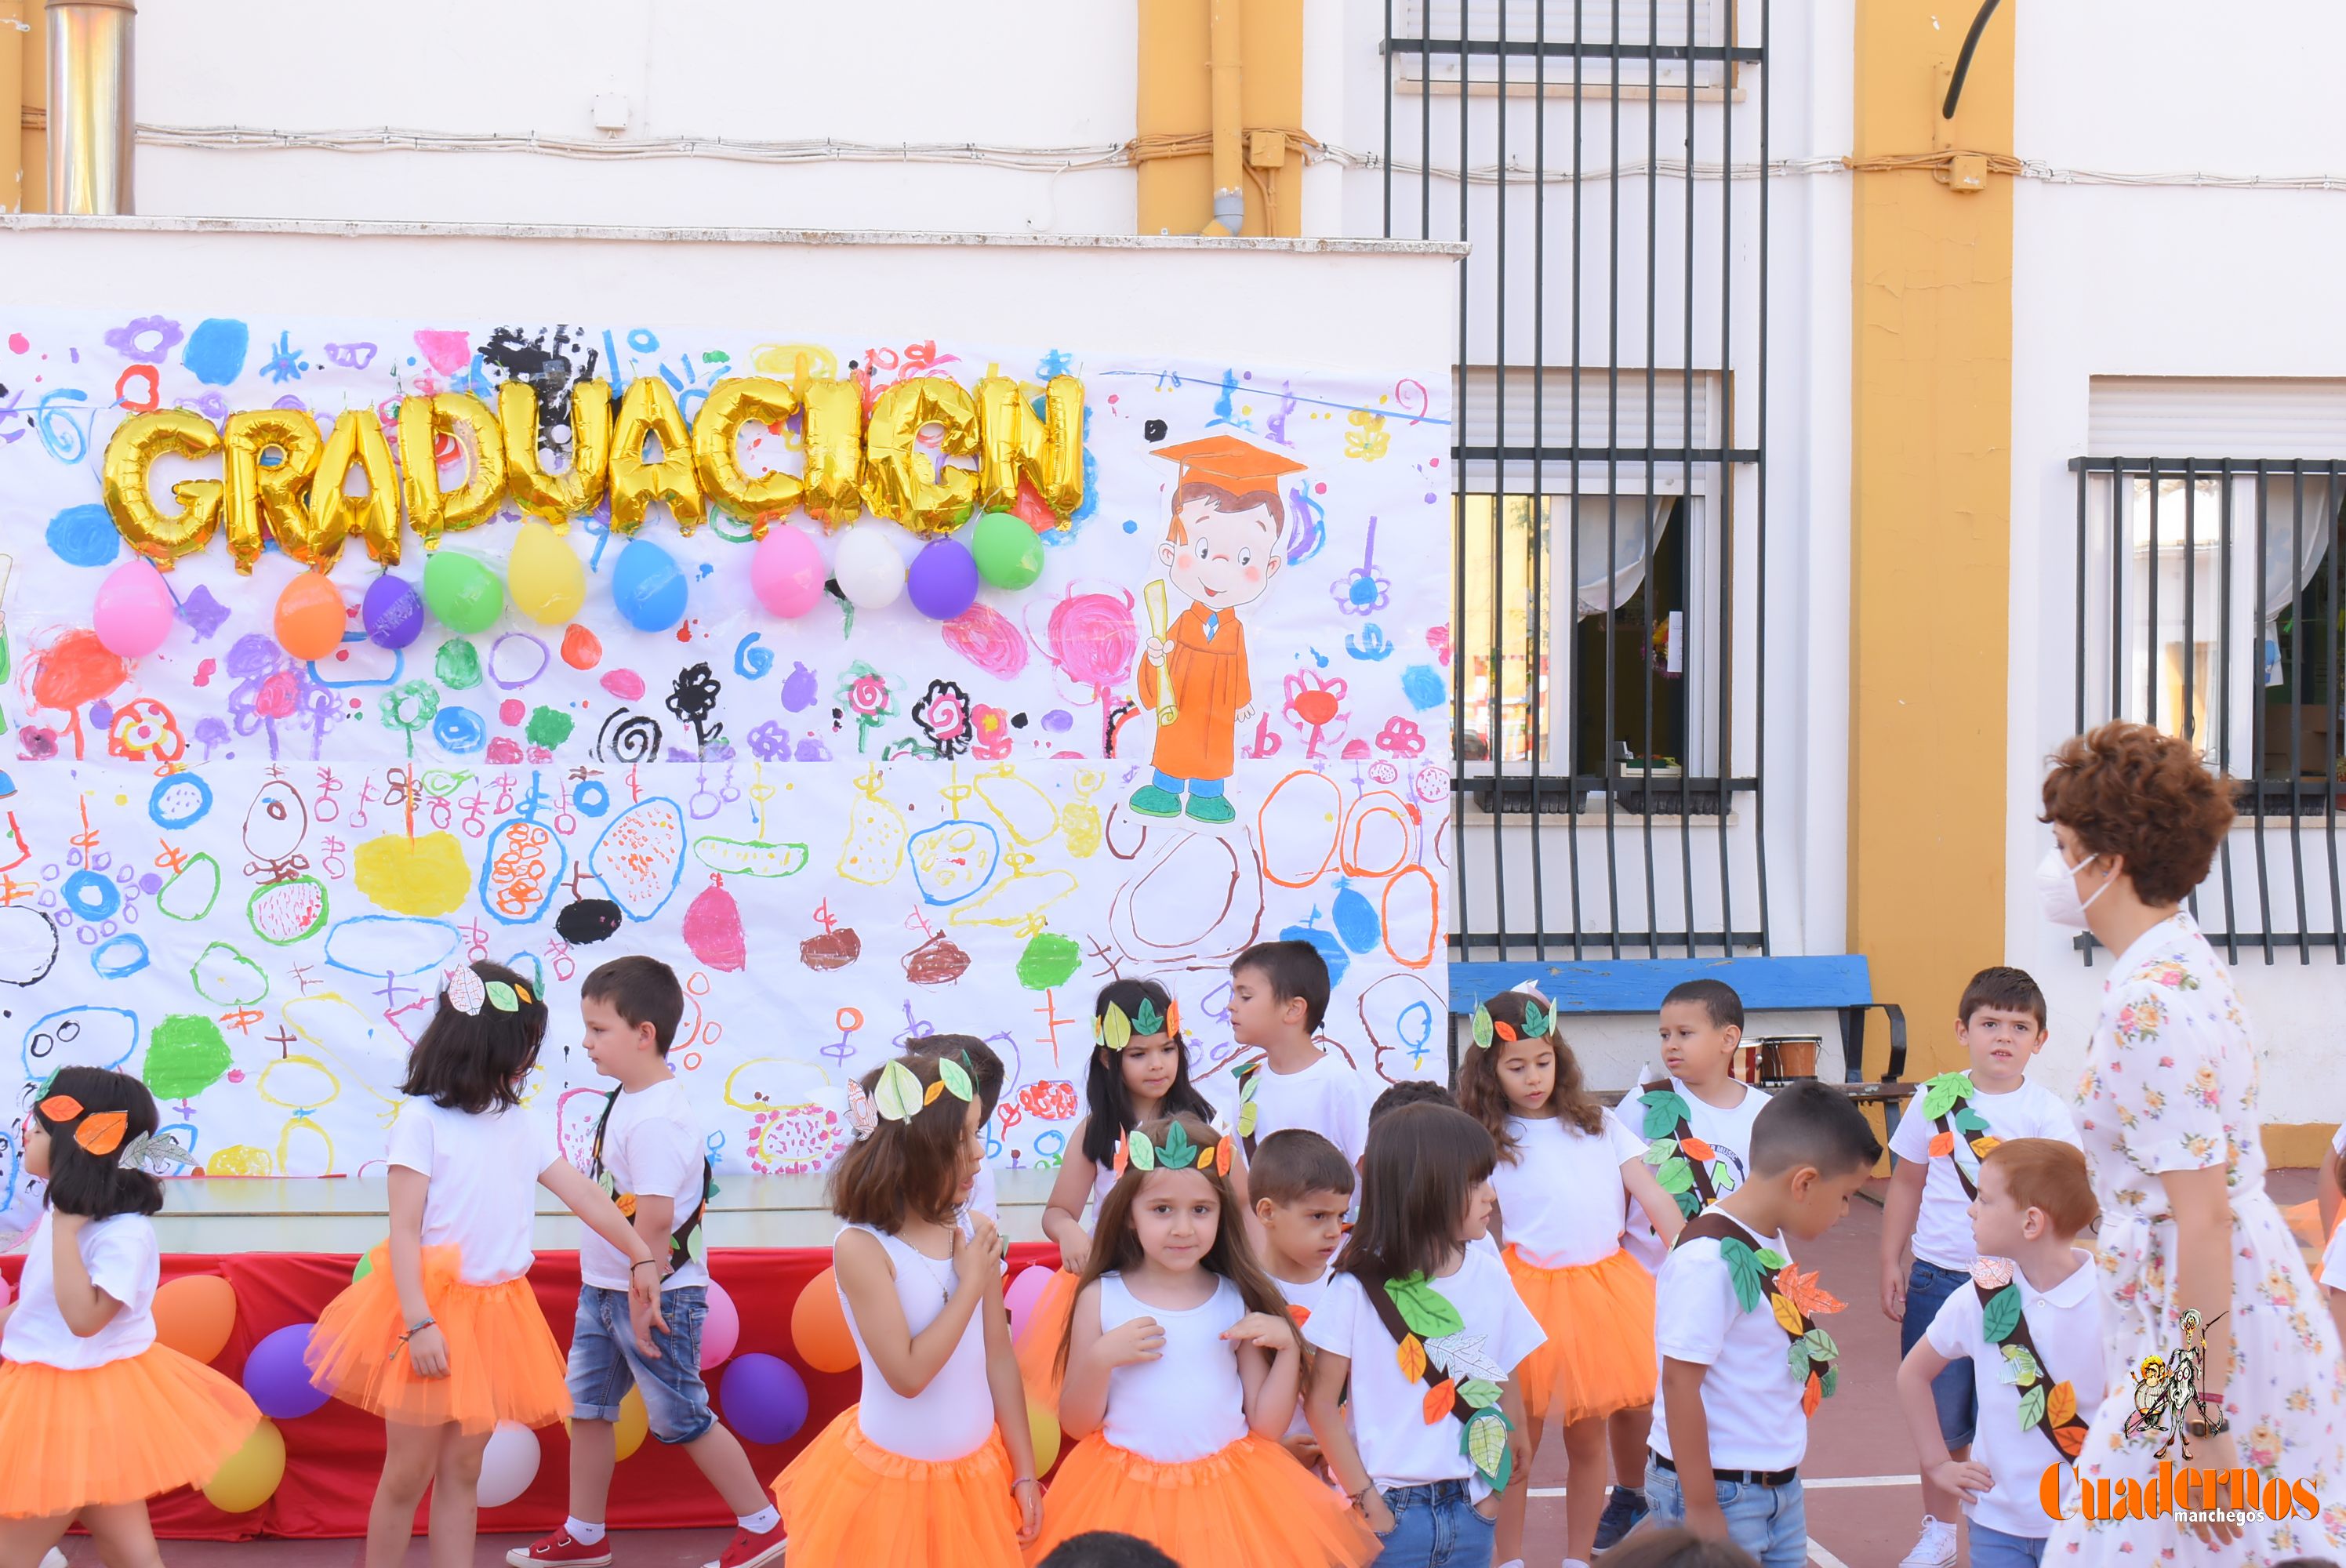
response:
[[[469,1563],[488,1434],[500,1420],[544,1427],[570,1413],[563,1352],[528,1282],[540,1185],[629,1256],[636,1347],[659,1357],[650,1331],[666,1263],[563,1160],[554,1124],[521,1106],[544,1038],[547,1005],[518,974],[486,962],[448,972],[392,1122],[392,1239],[310,1333],[310,1380],[382,1415],[366,1568],[406,1561],[425,1488],[432,1561]]]

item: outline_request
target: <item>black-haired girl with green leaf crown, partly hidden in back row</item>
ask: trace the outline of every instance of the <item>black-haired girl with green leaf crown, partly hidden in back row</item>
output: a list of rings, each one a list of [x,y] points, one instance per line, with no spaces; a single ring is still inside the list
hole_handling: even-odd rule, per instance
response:
[[[1018,1376],[1028,1399],[1058,1406],[1058,1347],[1067,1338],[1074,1282],[1091,1258],[1084,1204],[1105,1202],[1117,1185],[1114,1157],[1124,1134],[1161,1115],[1213,1120],[1213,1103],[1189,1084],[1189,1042],[1180,1007],[1157,981],[1112,981],[1091,1002],[1091,1075],[1084,1080],[1089,1115],[1067,1134],[1067,1155],[1042,1211],[1042,1235],[1058,1242],[1058,1272],[1028,1310],[1018,1336]],[[1243,1162],[1243,1153],[1239,1155]],[[1239,1164],[1239,1192],[1246,1167]],[[1241,1202],[1243,1207],[1243,1202]]]

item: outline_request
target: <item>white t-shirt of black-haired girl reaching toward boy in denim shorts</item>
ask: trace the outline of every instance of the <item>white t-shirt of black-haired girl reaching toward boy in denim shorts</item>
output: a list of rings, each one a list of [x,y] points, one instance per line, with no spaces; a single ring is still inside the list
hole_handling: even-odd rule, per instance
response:
[[[399,1101],[387,1157],[432,1178],[422,1239],[462,1251],[465,1284],[530,1272],[537,1178],[563,1157],[554,1122],[521,1106],[469,1115],[411,1094]]]

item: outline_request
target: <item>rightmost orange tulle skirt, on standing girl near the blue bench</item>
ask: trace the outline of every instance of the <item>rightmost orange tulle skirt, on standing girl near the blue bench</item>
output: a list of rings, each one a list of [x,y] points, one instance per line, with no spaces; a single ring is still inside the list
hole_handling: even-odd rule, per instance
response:
[[[1539,1268],[1508,1246],[1506,1272],[1548,1331],[1516,1368],[1525,1415],[1572,1425],[1654,1404],[1654,1277],[1635,1258]]]

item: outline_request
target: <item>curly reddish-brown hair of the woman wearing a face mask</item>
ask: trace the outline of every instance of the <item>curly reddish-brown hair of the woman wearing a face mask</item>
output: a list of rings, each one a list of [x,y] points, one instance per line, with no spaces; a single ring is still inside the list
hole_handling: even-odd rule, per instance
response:
[[[2072,735],[2050,758],[2043,817],[2095,854],[2116,854],[2144,904],[2182,904],[2231,826],[2231,786],[2198,753],[2144,723]]]

